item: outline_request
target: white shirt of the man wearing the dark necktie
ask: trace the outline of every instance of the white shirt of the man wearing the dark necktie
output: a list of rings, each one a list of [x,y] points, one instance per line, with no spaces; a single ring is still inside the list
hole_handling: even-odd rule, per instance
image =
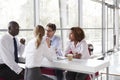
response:
[[[24,45],[22,45],[17,38],[16,41],[18,54],[22,56]],[[0,64],[6,64],[17,74],[22,71],[22,68],[15,62],[13,36],[9,33],[3,35],[0,39]]]

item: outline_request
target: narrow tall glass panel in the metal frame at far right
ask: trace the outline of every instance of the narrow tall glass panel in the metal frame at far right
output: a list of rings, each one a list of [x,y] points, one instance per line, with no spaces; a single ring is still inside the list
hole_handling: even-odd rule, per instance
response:
[[[106,50],[110,50],[114,48],[114,20],[113,20],[113,9],[107,7],[106,8]]]

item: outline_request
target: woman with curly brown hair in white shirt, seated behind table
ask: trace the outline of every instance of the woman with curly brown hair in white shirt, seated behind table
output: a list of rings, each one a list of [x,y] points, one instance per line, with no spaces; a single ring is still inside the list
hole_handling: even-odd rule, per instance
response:
[[[72,27],[69,34],[70,43],[65,51],[67,54],[73,54],[73,58],[88,59],[90,58],[88,45],[85,41],[85,34],[82,28]],[[85,80],[87,74],[68,71],[66,80]]]

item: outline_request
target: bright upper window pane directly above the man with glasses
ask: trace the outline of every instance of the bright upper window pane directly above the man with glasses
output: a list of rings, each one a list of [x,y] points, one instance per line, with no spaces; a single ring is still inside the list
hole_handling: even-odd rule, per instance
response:
[[[60,28],[59,1],[40,0],[40,24],[55,23]]]

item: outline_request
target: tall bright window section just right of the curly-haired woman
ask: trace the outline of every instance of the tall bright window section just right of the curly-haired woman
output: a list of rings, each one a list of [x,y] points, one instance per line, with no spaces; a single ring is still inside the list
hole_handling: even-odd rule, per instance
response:
[[[83,28],[85,28],[87,42],[94,46],[94,53],[101,52],[102,49],[101,21],[102,5],[92,0],[83,0]]]

